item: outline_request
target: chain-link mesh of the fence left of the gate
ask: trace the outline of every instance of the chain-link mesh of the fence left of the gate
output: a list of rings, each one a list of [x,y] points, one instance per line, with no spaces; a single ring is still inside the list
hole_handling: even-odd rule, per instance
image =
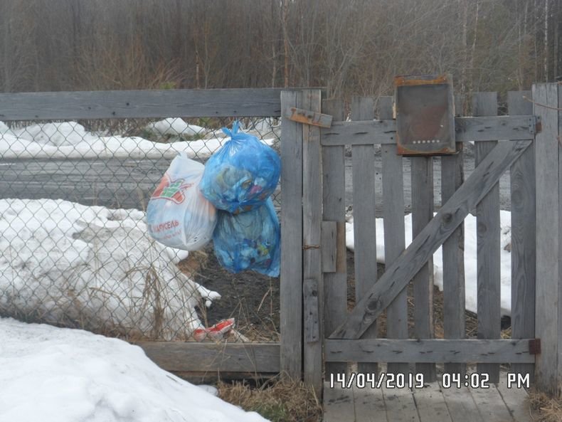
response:
[[[147,233],[171,159],[205,163],[233,120],[0,122],[0,316],[127,339],[277,340],[277,279]],[[278,151],[278,120],[241,121]],[[279,187],[273,199],[279,211]]]

